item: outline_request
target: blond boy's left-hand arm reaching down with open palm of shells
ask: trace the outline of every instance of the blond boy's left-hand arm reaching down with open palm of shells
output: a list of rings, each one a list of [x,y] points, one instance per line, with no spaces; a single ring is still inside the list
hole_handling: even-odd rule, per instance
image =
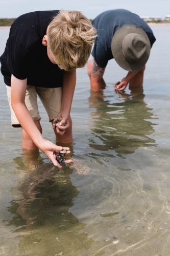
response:
[[[57,146],[42,137],[25,104],[26,89],[27,79],[20,80],[13,75],[11,76],[11,105],[15,115],[20,125],[30,136],[35,145],[51,159],[54,165],[61,167],[56,160],[54,152],[61,151],[62,147]],[[65,148],[65,150],[69,150],[69,148]],[[70,161],[71,160],[69,160],[69,162]]]

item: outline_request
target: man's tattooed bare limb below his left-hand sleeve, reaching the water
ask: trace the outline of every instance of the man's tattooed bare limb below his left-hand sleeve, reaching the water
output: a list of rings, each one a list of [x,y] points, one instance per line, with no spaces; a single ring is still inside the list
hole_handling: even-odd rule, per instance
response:
[[[90,77],[91,91],[97,92],[104,89],[106,87],[103,79],[105,68],[100,68],[95,60],[93,60],[87,63],[87,70]]]

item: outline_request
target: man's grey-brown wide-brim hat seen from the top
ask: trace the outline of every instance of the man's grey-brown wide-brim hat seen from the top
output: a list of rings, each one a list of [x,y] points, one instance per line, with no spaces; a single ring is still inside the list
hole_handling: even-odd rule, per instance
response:
[[[125,25],[113,35],[111,51],[120,67],[128,71],[141,69],[150,56],[151,44],[143,29]]]

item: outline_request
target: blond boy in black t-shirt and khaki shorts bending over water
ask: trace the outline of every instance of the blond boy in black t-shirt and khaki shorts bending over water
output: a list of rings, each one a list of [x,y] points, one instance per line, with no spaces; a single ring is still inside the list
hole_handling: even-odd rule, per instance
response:
[[[53,124],[56,141],[72,142],[70,110],[76,69],[87,63],[93,40],[94,29],[81,12],[36,11],[15,20],[1,56],[12,126],[21,127],[22,147],[39,148],[59,167],[54,152],[70,151],[43,138],[37,95]],[[60,118],[56,127],[55,120]]]

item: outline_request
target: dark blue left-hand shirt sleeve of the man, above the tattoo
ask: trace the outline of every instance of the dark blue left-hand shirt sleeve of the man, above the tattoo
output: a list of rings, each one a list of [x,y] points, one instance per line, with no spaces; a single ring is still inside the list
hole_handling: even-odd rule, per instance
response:
[[[109,58],[100,41],[94,44],[91,55],[100,68],[106,68]]]

